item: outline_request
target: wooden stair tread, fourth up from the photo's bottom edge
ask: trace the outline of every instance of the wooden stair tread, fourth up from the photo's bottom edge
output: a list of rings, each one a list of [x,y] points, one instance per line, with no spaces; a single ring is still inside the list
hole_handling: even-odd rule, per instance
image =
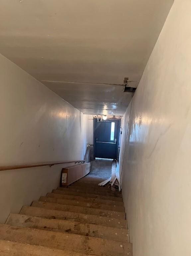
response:
[[[45,217],[48,219],[64,219],[70,221],[78,221],[80,223],[98,224],[107,227],[127,229],[127,220],[119,220],[115,218],[88,215],[76,212],[58,211],[40,207],[23,206],[20,211],[20,214]]]

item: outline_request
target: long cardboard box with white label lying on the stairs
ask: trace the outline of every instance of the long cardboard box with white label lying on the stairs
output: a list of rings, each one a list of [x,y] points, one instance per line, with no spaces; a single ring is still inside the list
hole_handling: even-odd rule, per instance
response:
[[[91,163],[79,164],[62,169],[61,185],[68,186],[91,171]]]

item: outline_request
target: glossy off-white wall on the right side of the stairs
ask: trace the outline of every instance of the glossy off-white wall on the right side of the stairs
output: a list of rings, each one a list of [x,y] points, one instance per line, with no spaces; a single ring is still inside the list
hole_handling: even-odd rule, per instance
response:
[[[191,1],[175,0],[130,115],[122,185],[134,256],[191,255],[190,81]]]

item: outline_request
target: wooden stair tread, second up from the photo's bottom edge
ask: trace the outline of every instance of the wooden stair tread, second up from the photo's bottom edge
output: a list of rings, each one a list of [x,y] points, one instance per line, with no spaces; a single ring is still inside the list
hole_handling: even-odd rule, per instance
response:
[[[132,244],[106,239],[0,224],[0,239],[97,256],[132,255]]]

